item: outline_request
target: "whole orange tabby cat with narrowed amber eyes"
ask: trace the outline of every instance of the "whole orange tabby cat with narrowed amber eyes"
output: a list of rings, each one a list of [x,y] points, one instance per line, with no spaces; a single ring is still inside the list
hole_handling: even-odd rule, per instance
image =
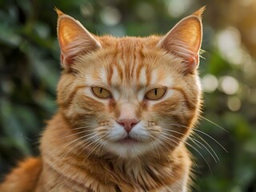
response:
[[[41,157],[22,162],[0,191],[187,191],[203,10],[146,38],[98,37],[57,10],[58,112]]]

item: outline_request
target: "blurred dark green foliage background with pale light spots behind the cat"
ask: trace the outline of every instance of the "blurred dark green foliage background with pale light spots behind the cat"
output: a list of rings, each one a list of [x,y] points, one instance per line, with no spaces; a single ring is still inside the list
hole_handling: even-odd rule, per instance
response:
[[[57,109],[55,6],[94,34],[116,36],[165,34],[207,6],[200,63],[205,103],[198,142],[188,145],[193,191],[256,191],[255,0],[0,0],[0,180],[22,158],[38,155],[45,121]]]

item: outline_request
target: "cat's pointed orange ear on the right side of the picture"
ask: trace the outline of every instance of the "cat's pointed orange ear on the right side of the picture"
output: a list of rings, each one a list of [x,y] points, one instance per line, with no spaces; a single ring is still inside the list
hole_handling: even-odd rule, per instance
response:
[[[205,7],[202,7],[194,14],[183,18],[158,42],[158,47],[182,57],[189,72],[193,72],[199,63],[204,10]]]

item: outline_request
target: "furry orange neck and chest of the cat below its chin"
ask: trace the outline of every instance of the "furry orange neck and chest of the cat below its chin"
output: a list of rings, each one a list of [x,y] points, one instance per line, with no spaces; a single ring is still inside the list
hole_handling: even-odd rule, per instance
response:
[[[183,149],[179,148],[173,154],[161,157],[146,155],[136,159],[122,159],[111,154],[106,155],[108,158],[91,154],[85,159],[88,152],[72,144],[76,138],[72,138],[71,134],[65,118],[57,114],[49,122],[41,145],[45,167],[42,174],[53,172],[56,178],[72,183],[70,186],[101,189],[97,191],[117,191],[117,186],[122,191],[135,191],[134,187],[158,189],[181,178],[190,164],[188,158],[183,156],[184,153],[181,153]]]

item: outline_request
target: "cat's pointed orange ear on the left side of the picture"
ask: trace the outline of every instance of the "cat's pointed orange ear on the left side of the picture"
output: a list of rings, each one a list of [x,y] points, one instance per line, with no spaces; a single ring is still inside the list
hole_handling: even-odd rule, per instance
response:
[[[58,42],[61,48],[62,66],[70,69],[74,58],[101,47],[101,43],[80,22],[55,9],[58,14]]]

